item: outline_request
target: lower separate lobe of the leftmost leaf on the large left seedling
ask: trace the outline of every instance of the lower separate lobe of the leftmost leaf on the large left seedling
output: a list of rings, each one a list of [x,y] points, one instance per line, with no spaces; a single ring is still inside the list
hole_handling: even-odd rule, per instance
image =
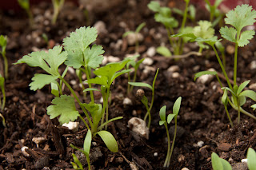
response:
[[[36,73],[34,74],[34,77],[32,77],[33,82],[30,83],[30,89],[34,91],[36,91],[37,89],[42,89],[45,85],[50,84],[57,78],[58,76]]]

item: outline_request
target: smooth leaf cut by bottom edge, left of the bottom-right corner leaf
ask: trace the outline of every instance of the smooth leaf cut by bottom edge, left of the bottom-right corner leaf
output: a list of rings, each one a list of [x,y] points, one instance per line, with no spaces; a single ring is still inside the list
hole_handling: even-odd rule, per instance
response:
[[[230,163],[213,152],[211,154],[211,164],[214,170],[232,170]]]

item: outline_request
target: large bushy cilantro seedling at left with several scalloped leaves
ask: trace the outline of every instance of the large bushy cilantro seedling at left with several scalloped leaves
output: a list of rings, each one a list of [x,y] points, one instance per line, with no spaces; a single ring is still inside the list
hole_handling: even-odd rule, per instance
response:
[[[123,73],[127,73],[130,70],[120,71],[128,61],[122,61],[119,63],[110,63],[104,67],[99,67],[102,64],[102,50],[101,45],[92,45],[97,38],[97,30],[91,27],[81,27],[75,32],[70,33],[70,36],[63,40],[64,51],[62,46],[55,46],[53,49],[49,49],[48,53],[45,51],[37,51],[23,56],[22,59],[18,60],[15,64],[26,63],[31,67],[40,67],[46,73],[36,73],[32,78],[32,83],[30,83],[31,90],[42,89],[45,85],[51,85],[51,93],[54,94],[55,98],[52,101],[52,105],[48,106],[47,114],[50,115],[50,119],[58,117],[58,121],[61,124],[68,123],[70,121],[75,121],[78,117],[81,118],[83,123],[88,129],[86,135],[86,147],[90,143],[90,137],[96,135],[100,136],[106,147],[110,149],[111,152],[118,152],[118,144],[114,139],[114,136],[102,127],[122,117],[114,117],[111,120],[102,121],[99,125],[101,119],[104,120],[105,110],[107,109],[108,97],[110,96],[110,85],[114,79]],[[66,69],[61,73],[59,66],[65,64]],[[74,89],[65,80],[65,75],[68,67],[73,67],[74,69],[79,69],[82,73],[86,73],[87,82],[89,88],[84,89],[84,91],[90,91],[91,101],[89,104],[82,103],[78,98],[78,95],[74,92]],[[91,69],[94,70],[94,74],[98,77],[90,79]],[[91,87],[91,83],[102,85],[102,97],[104,98],[103,107],[101,104],[94,103],[94,96],[92,91],[98,90]],[[62,93],[62,84],[70,90],[73,97]],[[80,115],[76,109],[75,102],[82,109],[83,113],[86,115],[89,124]],[[90,113],[90,116],[89,116]],[[107,111],[106,111],[106,117]],[[91,132],[91,134],[90,134]],[[90,152],[90,148],[85,147],[85,152],[87,158]],[[75,156],[74,156],[75,159]],[[77,164],[78,161],[74,160]],[[74,164],[75,164],[74,163]],[[79,166],[79,164],[78,164]],[[80,166],[79,166],[80,167]],[[78,167],[77,167],[78,168]]]

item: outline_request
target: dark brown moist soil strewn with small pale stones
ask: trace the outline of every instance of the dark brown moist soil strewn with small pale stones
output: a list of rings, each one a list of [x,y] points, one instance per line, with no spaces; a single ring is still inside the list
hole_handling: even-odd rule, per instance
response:
[[[6,108],[1,112],[6,118],[6,128],[0,124],[0,169],[72,169],[72,153],[77,154],[87,169],[85,156],[70,147],[70,144],[74,144],[82,148],[87,131],[85,125],[78,120],[78,131],[73,132],[59,125],[57,118],[50,120],[46,108],[54,97],[50,93],[49,85],[36,92],[29,88],[34,73],[42,73],[42,70],[12,63],[32,51],[62,45],[62,39],[70,32],[80,26],[94,26],[98,21],[104,22],[106,29],[100,27],[96,43],[103,46],[105,56],[112,55],[120,60],[126,57],[126,54],[134,53],[134,45],[128,45],[127,38],[122,38],[122,34],[127,30],[135,30],[140,23],[146,22],[141,31],[143,39],[138,50],[140,58],[148,57],[150,47],[156,48],[162,43],[169,46],[165,28],[154,22],[154,14],[146,7],[149,2],[121,1],[113,8],[90,12],[90,18],[86,17],[82,6],[66,2],[54,25],[50,22],[52,5],[42,2],[38,6],[32,6],[35,22],[33,29],[22,11],[1,11],[0,34],[8,36],[6,56],[10,78],[6,80]],[[183,9],[184,4],[179,1],[163,1],[162,5]],[[182,19],[175,14],[174,16]],[[197,11],[197,21],[207,18],[206,11]],[[195,23],[188,20],[188,25]],[[42,38],[42,34],[46,34],[48,43]],[[223,41],[223,44],[234,49],[230,42]],[[255,45],[255,42],[250,42],[245,48],[238,49],[238,83],[246,80],[251,80],[250,84],[255,83],[256,69],[252,68],[251,63],[254,60]],[[185,45],[184,51],[198,51],[198,45],[189,43]],[[3,73],[2,57],[0,58]],[[226,53],[226,70],[229,77],[233,76],[233,58],[232,50]],[[244,164],[241,160],[246,158],[249,147],[255,147],[255,120],[242,114],[241,123],[238,125],[238,114],[229,107],[231,119],[234,121],[234,128],[231,128],[221,102],[222,89],[217,79],[211,78],[206,83],[194,81],[195,73],[214,68],[225,85],[226,81],[221,76],[222,71],[214,53],[205,49],[200,57],[191,55],[179,60],[162,57],[156,53],[150,59],[153,64],[140,65],[137,79],[151,85],[156,69],[159,68],[149,139],[138,136],[127,127],[130,118],[143,119],[146,109],[135,97],[138,88],[134,88],[134,91],[127,95],[127,77],[118,77],[112,87],[109,113],[110,118],[123,118],[111,123],[108,130],[118,141],[119,151],[110,152],[102,140],[95,137],[90,154],[92,169],[131,169],[131,163],[137,166],[133,169],[211,169],[212,152],[228,160],[234,168],[246,169],[242,168]],[[175,70],[170,71],[169,68],[174,65]],[[90,101],[89,97],[83,98],[78,77],[72,70],[67,73],[66,80],[72,82],[72,87],[82,101]],[[144,90],[150,101],[150,90]],[[64,89],[64,93],[70,94],[68,89]],[[96,101],[100,102],[101,96],[94,94]],[[130,98],[131,104],[123,104],[126,97]],[[166,105],[167,113],[171,113],[178,97],[182,97],[178,114],[178,135],[170,168],[162,168],[166,158],[167,138],[166,129],[158,124],[159,110]],[[250,109],[252,104],[253,101],[247,100],[244,109],[253,113]],[[79,112],[82,113],[82,110]],[[174,122],[171,122],[169,127],[172,139]],[[43,140],[40,144],[35,144],[32,141],[34,137],[43,137]],[[24,146],[27,147],[25,155],[21,151]]]

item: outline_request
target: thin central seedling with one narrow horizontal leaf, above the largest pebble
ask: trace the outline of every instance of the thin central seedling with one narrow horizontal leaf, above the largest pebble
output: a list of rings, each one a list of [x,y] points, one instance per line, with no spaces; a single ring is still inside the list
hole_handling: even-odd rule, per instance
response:
[[[157,80],[157,77],[158,77],[158,70],[159,69],[157,69],[157,72],[154,75],[154,81],[153,81],[152,85],[149,85],[147,83],[142,83],[142,82],[128,82],[130,85],[150,88],[151,91],[152,91],[152,98],[151,98],[150,107],[148,105],[148,100],[147,100],[145,95],[142,95],[142,99],[141,99],[142,104],[145,105],[145,107],[146,107],[146,115],[144,117],[144,121],[146,121],[147,117],[149,117],[149,121],[147,123],[148,128],[150,128],[150,124],[151,124],[151,109],[152,109],[153,104],[154,104],[154,84],[155,84],[155,81]]]

